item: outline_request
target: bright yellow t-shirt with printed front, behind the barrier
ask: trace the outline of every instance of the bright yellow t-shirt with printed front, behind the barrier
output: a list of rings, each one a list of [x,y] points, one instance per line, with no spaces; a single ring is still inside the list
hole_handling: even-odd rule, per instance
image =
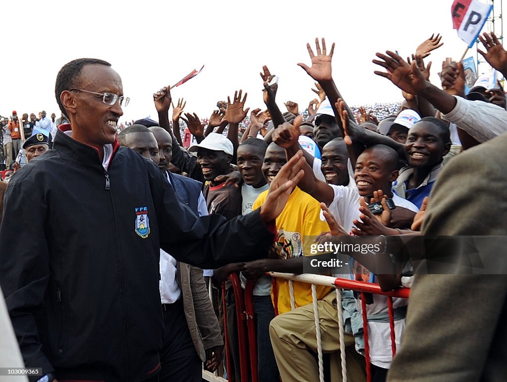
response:
[[[265,191],[253,203],[253,210],[260,208],[268,192]],[[280,259],[288,259],[308,255],[303,253],[303,239],[308,236],[317,236],[329,231],[328,223],[320,218],[320,204],[310,195],[296,187],[288,198],[287,204],[280,216],[276,218],[274,247]],[[312,302],[311,285],[298,281],[293,282],[294,300],[296,308]],[[291,310],[291,295],[289,294],[288,280],[276,279],[274,287],[278,292],[278,313]],[[317,285],[317,298],[320,300],[333,290],[331,287]],[[271,291],[273,296],[273,291]]]

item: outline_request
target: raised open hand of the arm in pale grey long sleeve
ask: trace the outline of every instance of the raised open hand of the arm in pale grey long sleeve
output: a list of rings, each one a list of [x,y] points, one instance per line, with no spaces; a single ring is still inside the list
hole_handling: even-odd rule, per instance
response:
[[[373,60],[373,63],[387,69],[387,73],[375,70],[375,74],[385,77],[401,90],[410,94],[418,95],[426,88],[427,81],[416,61],[412,61],[412,64],[409,65],[394,52],[386,51],[386,54],[387,56],[377,53],[376,56],[382,61]]]

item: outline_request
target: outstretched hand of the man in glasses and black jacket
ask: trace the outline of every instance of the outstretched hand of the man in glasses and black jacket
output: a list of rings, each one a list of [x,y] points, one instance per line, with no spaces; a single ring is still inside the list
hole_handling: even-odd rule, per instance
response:
[[[269,185],[268,196],[260,210],[261,219],[266,224],[274,222],[283,211],[294,187],[296,187],[305,174],[303,171],[304,163],[305,158],[303,157],[303,152],[300,150],[283,165]]]

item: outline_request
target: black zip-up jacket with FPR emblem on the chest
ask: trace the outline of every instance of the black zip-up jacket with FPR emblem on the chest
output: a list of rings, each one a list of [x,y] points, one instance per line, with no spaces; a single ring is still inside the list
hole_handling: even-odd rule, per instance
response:
[[[59,379],[137,381],[159,368],[159,248],[202,268],[267,253],[252,213],[197,218],[153,163],[58,131],[12,178],[0,226],[0,284],[27,367]]]

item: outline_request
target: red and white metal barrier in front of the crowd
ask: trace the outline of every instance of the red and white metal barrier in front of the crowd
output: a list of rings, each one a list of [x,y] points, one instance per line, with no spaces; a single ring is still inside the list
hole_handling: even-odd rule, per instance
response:
[[[318,370],[319,370],[319,381],[323,382],[324,373],[323,373],[323,356],[322,356],[322,343],[321,343],[321,333],[319,326],[319,317],[318,317],[318,307],[317,307],[317,298],[316,298],[316,285],[330,286],[336,288],[336,298],[338,307],[341,307],[341,294],[340,289],[345,290],[354,290],[360,293],[361,296],[361,311],[363,315],[363,330],[364,330],[364,340],[365,340],[365,358],[366,358],[366,368],[367,368],[367,381],[371,381],[371,371],[370,371],[370,349],[369,349],[369,333],[368,333],[368,319],[367,319],[367,309],[366,309],[366,298],[365,293],[372,293],[378,295],[387,296],[387,304],[388,304],[388,316],[389,316],[389,326],[391,329],[391,348],[392,355],[394,357],[396,352],[396,343],[395,343],[395,334],[394,334],[394,316],[393,316],[393,307],[392,307],[392,297],[398,298],[409,298],[410,289],[400,288],[394,291],[384,292],[380,288],[378,284],[372,284],[364,281],[356,281],[356,280],[348,280],[348,279],[340,279],[331,276],[321,276],[321,275],[313,275],[313,274],[303,274],[303,275],[294,275],[294,274],[286,274],[286,273],[278,273],[278,272],[269,272],[273,278],[282,278],[289,280],[289,294],[291,297],[291,309],[295,309],[294,302],[294,291],[292,286],[292,281],[299,281],[311,284],[312,288],[312,304],[313,304],[313,312],[315,319],[315,327],[316,327],[316,340],[317,340],[317,359],[318,359]],[[234,296],[236,301],[236,319],[238,326],[238,340],[239,340],[239,356],[240,356],[240,371],[241,371],[241,382],[258,382],[258,360],[257,360],[257,333],[256,333],[256,325],[255,325],[255,317],[253,314],[253,295],[252,290],[255,283],[247,281],[245,285],[245,290],[243,292],[241,288],[241,283],[239,280],[238,274],[231,275],[231,281],[234,290]],[[225,289],[223,289],[223,294],[225,297]],[[277,294],[274,294],[274,308],[275,314],[277,315]],[[223,298],[224,303],[224,315],[226,312],[225,307],[225,298]],[[340,342],[340,349],[345,349],[345,340],[344,340],[344,325],[343,325],[343,312],[342,309],[337,309],[338,315],[338,335]],[[225,317],[225,316],[224,316]],[[227,339],[227,322],[224,318],[224,331],[226,333],[226,363],[228,364],[227,372],[230,374],[230,352],[227,349],[229,345]],[[247,333],[247,335],[246,335]],[[248,349],[248,351],[247,351]],[[249,357],[248,357],[249,355]],[[342,368],[342,380],[343,382],[347,382],[347,367],[346,367],[346,359],[345,359],[345,351],[340,352],[341,357],[341,368]],[[211,373],[209,373],[212,375]],[[205,377],[203,372],[203,378]],[[225,380],[221,377],[213,376],[214,378],[220,379],[207,379],[206,380]]]

